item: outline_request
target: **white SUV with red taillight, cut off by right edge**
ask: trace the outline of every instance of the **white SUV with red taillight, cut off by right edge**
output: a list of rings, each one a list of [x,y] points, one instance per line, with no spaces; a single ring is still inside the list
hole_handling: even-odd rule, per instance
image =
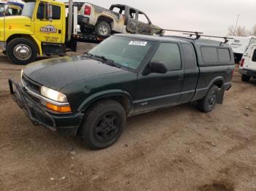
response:
[[[243,55],[240,62],[239,72],[242,74],[242,81],[249,82],[256,78],[256,44],[251,44]]]

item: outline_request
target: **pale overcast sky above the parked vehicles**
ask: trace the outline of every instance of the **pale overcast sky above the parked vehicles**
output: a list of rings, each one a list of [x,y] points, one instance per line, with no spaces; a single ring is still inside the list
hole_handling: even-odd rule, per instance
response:
[[[61,1],[61,0],[59,0]],[[88,0],[109,8],[127,4],[145,12],[151,22],[168,29],[201,31],[206,35],[226,36],[227,28],[238,25],[251,29],[256,24],[256,0]]]

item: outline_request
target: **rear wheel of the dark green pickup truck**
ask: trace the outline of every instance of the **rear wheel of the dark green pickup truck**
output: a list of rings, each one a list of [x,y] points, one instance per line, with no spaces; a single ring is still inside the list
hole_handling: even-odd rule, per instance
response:
[[[214,107],[217,104],[218,94],[219,94],[219,87],[217,87],[217,85],[212,86],[211,89],[206,94],[206,96],[203,99],[197,101],[198,109],[201,112],[205,112],[205,113],[208,113],[214,110]]]

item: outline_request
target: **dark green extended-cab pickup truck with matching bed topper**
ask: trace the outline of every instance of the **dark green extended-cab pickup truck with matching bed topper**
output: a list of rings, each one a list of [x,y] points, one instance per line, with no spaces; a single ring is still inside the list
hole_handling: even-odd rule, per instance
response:
[[[223,42],[115,34],[84,55],[29,64],[19,84],[9,80],[10,92],[34,124],[103,149],[129,116],[192,101],[211,112],[231,87],[234,63]]]

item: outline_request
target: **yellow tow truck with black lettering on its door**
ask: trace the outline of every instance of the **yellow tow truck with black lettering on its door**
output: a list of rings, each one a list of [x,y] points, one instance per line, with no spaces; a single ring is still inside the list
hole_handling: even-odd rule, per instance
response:
[[[66,13],[66,11],[68,12]],[[69,0],[28,0],[20,16],[0,17],[0,50],[12,63],[27,64],[37,55],[65,55],[76,43],[100,42],[107,36],[78,33],[78,7]]]

